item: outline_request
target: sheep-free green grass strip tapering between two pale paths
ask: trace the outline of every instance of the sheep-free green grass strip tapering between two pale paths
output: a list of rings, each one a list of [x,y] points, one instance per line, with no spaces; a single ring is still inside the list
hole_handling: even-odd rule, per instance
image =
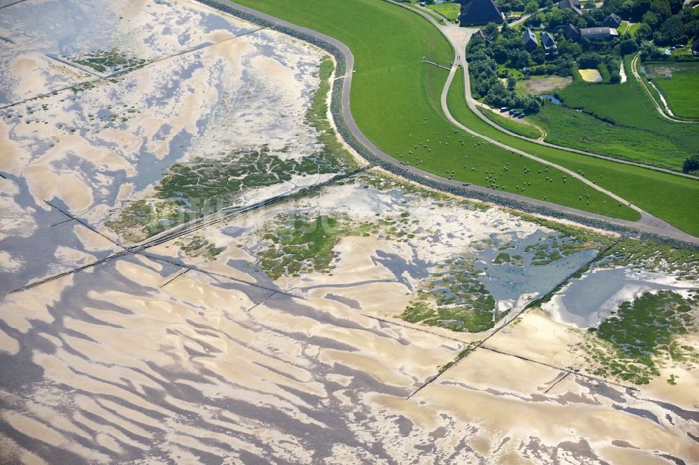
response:
[[[699,182],[696,180],[573,154],[503,134],[479,119],[466,106],[461,70],[454,77],[454,83],[449,89],[448,103],[452,115],[473,131],[491,138],[499,138],[510,147],[535,154],[570,170],[584,172],[585,176],[598,186],[617,193],[672,226],[699,237],[699,215],[696,208],[699,202]]]

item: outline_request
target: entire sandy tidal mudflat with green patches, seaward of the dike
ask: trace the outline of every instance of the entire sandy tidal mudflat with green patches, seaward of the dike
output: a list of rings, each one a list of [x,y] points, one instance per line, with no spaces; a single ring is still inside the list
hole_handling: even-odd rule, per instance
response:
[[[0,462],[699,459],[692,251],[375,168],[301,191],[363,163],[331,61],[197,3],[0,24],[2,98],[48,93],[1,110]]]

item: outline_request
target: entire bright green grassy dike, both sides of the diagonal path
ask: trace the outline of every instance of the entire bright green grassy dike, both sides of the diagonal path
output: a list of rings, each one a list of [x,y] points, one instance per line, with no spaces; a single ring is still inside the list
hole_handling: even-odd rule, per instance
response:
[[[352,49],[356,68],[350,101],[352,114],[361,131],[384,152],[438,175],[450,175],[447,171],[453,170],[454,179],[464,182],[495,184],[501,190],[607,216],[638,218],[632,209],[619,207],[611,198],[575,179],[563,183],[563,173],[557,170],[547,171],[545,165],[486,145],[470,135],[454,133],[454,127],[442,115],[439,102],[447,71],[421,62],[421,57],[426,56],[446,64],[452,58],[452,51],[438,31],[419,15],[380,0],[239,0],[239,3],[336,37]],[[338,21],[338,17],[343,21]],[[580,170],[649,213],[699,235],[696,215],[676,206],[680,199],[684,205],[696,205],[699,182],[507,136],[468,110],[463,103],[462,82],[456,78],[449,93],[449,106],[466,126]]]

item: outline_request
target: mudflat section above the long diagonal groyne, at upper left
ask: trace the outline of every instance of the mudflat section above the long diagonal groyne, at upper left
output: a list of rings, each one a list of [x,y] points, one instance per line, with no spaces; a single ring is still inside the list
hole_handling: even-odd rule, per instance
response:
[[[2,228],[17,232],[2,244],[4,291],[99,259],[83,240],[120,250],[347,169],[321,138],[329,75],[311,45],[187,1],[37,1],[1,13],[0,36],[13,41],[0,75],[13,212]],[[71,216],[103,237],[73,232],[82,226]],[[64,246],[79,252],[67,260]]]

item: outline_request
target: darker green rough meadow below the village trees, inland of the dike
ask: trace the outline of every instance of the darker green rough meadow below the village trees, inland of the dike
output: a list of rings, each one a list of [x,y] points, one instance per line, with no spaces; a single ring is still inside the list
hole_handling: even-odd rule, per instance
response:
[[[624,66],[629,75],[624,84],[575,80],[557,91],[567,108],[545,107],[535,117],[549,133],[547,142],[681,170],[684,158],[699,147],[699,128],[661,117],[631,75],[630,56]]]

